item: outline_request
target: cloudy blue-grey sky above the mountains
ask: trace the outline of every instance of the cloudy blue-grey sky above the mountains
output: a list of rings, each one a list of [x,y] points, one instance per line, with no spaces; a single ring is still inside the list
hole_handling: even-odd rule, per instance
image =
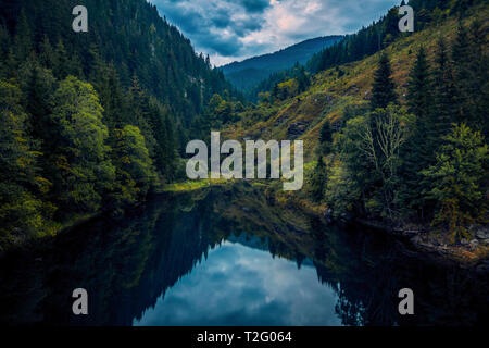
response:
[[[215,65],[351,34],[400,0],[149,0]]]

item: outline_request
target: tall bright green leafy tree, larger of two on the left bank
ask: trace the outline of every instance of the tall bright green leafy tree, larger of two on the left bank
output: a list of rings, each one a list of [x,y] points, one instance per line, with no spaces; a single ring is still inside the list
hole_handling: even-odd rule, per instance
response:
[[[52,97],[49,157],[53,197],[73,211],[100,209],[102,190],[114,179],[103,109],[93,87],[68,76]]]

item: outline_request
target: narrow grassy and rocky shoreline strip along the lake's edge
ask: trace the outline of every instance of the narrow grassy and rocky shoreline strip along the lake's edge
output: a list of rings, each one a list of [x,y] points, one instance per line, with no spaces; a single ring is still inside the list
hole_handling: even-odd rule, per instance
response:
[[[183,183],[168,184],[156,195],[164,194],[185,194],[198,190],[205,190],[211,187],[231,187],[237,182],[233,179],[202,179]],[[243,182],[244,187],[261,188],[264,190],[267,203],[272,206],[281,206],[289,210],[305,215],[319,217],[327,224],[344,223],[347,221],[335,220],[330,210],[325,204],[318,204],[310,199],[298,197],[290,192],[281,192],[272,188],[271,185],[263,182]],[[49,236],[32,238],[22,245],[15,245],[13,248],[33,247],[42,243],[42,238],[52,237],[60,233],[71,231],[84,223],[100,216],[101,213],[76,216],[63,225],[60,224],[57,231]],[[263,217],[263,216],[262,216]],[[489,272],[489,228],[480,227],[473,232],[474,238],[462,240],[460,245],[450,244],[448,237],[439,232],[429,231],[419,226],[406,228],[397,228],[379,221],[369,221],[365,219],[355,219],[353,216],[349,223],[359,226],[365,226],[374,231],[383,231],[390,236],[399,239],[406,248],[405,252],[415,256],[422,260],[432,261],[438,264],[456,265],[463,269],[477,269],[478,271]],[[3,253],[3,252],[0,252]]]

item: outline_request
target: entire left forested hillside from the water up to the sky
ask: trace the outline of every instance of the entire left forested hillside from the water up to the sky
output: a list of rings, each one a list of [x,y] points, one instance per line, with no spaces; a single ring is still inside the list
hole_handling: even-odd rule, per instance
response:
[[[84,1],[88,33],[77,4],[0,1],[0,250],[143,200],[211,97],[234,96],[147,1]]]

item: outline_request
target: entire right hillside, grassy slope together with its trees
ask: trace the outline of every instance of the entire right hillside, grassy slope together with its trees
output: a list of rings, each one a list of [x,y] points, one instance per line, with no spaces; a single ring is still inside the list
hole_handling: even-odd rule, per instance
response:
[[[411,4],[415,33],[384,39],[374,54],[350,55],[368,30],[347,38],[322,53],[305,91],[298,78],[277,84],[226,137],[304,140],[306,184],[277,186],[279,199],[466,243],[488,223],[489,8]]]

